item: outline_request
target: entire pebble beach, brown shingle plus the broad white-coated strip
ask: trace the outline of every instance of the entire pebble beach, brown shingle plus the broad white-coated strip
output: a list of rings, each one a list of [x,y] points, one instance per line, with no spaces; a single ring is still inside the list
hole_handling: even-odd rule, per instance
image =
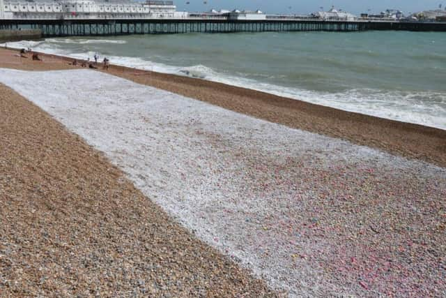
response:
[[[40,70],[72,68],[52,59]],[[261,105],[247,99],[249,91],[219,107],[206,97],[209,82],[192,96],[183,79],[164,91],[161,75],[121,77],[0,70],[12,88],[2,86],[1,113],[16,115],[0,122],[11,132],[1,134],[0,234],[8,236],[0,236],[0,292],[65,295],[89,285],[87,295],[445,295],[444,131],[313,105],[300,112],[314,124],[291,121],[293,109],[274,121],[277,110],[257,117]],[[286,105],[262,96],[263,105]],[[346,128],[364,119],[369,131]],[[399,139],[378,137],[379,126]],[[86,227],[95,233],[86,237]],[[148,235],[162,245],[146,245]],[[53,246],[43,253],[47,243]],[[73,274],[85,283],[73,288]]]

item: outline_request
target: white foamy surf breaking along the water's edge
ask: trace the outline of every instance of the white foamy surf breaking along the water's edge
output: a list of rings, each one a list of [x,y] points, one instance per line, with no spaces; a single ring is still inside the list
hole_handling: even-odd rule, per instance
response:
[[[8,47],[31,47],[34,50],[59,54],[77,59],[93,57],[95,52],[67,52],[57,43],[125,43],[125,40],[89,40],[89,39],[59,39],[49,38],[44,41],[23,40],[8,43]],[[434,91],[380,91],[377,89],[351,89],[342,92],[321,92],[292,87],[284,87],[268,82],[259,82],[242,74],[231,75],[220,73],[203,65],[169,66],[167,64],[147,61],[137,57],[108,56],[113,64],[153,70],[160,73],[187,75],[203,80],[221,82],[236,87],[244,87],[263,91],[277,96],[303,100],[308,103],[334,107],[339,110],[358,112],[385,119],[393,119],[413,124],[422,124],[440,129],[446,129],[446,93]],[[264,74],[263,74],[264,76]],[[423,98],[423,100],[418,100]],[[426,100],[426,98],[428,100]],[[422,102],[429,102],[425,104]]]

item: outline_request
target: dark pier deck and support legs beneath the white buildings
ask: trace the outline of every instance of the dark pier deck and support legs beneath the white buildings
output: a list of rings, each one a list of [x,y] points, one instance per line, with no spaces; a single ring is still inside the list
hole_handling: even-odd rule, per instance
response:
[[[207,19],[79,19],[0,20],[0,29],[39,29],[44,37],[107,36],[167,33],[233,33],[267,31],[446,31],[446,22],[370,22],[323,20],[207,20]]]

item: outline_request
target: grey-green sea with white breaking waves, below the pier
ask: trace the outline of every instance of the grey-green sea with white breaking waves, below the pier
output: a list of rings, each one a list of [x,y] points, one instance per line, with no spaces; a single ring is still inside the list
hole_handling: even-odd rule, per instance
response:
[[[265,91],[446,130],[446,33],[187,33],[47,38],[8,47]]]

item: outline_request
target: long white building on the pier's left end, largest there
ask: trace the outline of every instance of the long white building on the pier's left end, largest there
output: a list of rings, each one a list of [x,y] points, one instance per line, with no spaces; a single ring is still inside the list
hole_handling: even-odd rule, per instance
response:
[[[68,0],[61,2],[15,2],[0,0],[1,19],[180,19],[187,13],[177,12],[173,1],[95,2]]]

